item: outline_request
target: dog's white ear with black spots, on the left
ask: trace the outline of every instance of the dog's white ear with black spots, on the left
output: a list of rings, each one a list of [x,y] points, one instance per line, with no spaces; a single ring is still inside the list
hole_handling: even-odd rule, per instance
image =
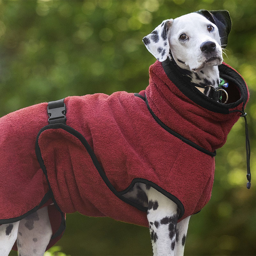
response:
[[[164,20],[148,36],[143,37],[142,41],[148,51],[159,61],[167,59],[170,51],[167,31],[172,25],[171,20]]]

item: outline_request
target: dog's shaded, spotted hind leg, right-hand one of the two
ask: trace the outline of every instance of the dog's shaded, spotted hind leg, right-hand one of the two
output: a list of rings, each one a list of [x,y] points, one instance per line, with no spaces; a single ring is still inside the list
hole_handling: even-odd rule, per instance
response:
[[[17,247],[19,255],[43,256],[52,236],[47,207],[20,220]]]

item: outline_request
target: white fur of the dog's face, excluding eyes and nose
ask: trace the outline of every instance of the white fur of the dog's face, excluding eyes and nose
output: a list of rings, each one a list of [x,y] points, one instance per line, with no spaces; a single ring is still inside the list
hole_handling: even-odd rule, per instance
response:
[[[207,30],[208,25],[213,26],[213,30],[210,32]],[[169,20],[168,26],[170,28],[167,32],[167,37],[172,56],[181,68],[195,72],[200,70],[208,71],[211,72],[211,77],[219,76],[217,66],[221,64],[223,59],[219,30],[214,23],[198,13],[189,13],[175,20]],[[183,33],[188,36],[188,40],[180,43],[179,36]],[[219,59],[207,62],[207,58],[201,51],[200,46],[208,41],[216,44],[215,55]],[[179,63],[178,59],[184,61],[185,64]]]

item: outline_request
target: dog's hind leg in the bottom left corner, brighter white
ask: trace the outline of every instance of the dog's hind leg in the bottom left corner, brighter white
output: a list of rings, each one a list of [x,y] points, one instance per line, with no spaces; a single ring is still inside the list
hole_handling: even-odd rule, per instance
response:
[[[8,256],[17,239],[19,222],[0,225],[0,255]]]

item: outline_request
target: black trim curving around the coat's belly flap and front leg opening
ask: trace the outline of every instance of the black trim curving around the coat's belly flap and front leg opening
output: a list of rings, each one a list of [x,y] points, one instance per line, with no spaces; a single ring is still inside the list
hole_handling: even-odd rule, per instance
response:
[[[91,159],[92,159],[92,163],[94,164],[95,168],[97,169],[97,171],[99,172],[101,178],[103,179],[103,181],[106,183],[106,185],[108,186],[108,188],[119,198],[121,199],[122,201],[124,201],[125,203],[127,204],[130,204],[134,207],[136,207],[138,210],[140,211],[144,211],[146,212],[148,210],[147,207],[144,207],[140,204],[136,204],[134,202],[132,202],[131,200],[129,200],[128,198],[124,197],[123,194],[125,194],[131,187],[134,186],[135,183],[137,182],[141,182],[141,183],[144,183],[144,184],[148,184],[150,185],[152,188],[155,188],[157,191],[159,191],[160,193],[162,193],[164,196],[168,197],[169,199],[171,199],[175,204],[178,205],[179,209],[180,209],[180,215],[179,215],[179,219],[184,215],[184,212],[185,212],[185,209],[184,209],[184,206],[183,204],[180,202],[180,200],[173,196],[172,194],[170,194],[169,192],[167,192],[166,190],[164,190],[163,188],[159,187],[158,185],[156,185],[154,182],[152,181],[149,181],[149,180],[146,180],[146,179],[141,179],[141,178],[136,178],[136,179],[133,179],[131,184],[123,191],[117,191],[115,189],[115,187],[111,184],[111,182],[108,180],[108,177],[107,175],[105,174],[104,170],[101,168],[100,166],[100,163],[97,159],[97,157],[95,156],[91,146],[89,145],[89,143],[87,142],[87,140],[84,138],[84,136],[76,131],[75,129],[73,129],[72,127],[68,126],[68,125],[65,125],[65,124],[49,124],[49,125],[46,125],[44,126],[38,133],[37,135],[37,139],[36,139],[36,156],[38,158],[38,161],[39,161],[39,164],[40,164],[40,167],[42,168],[42,170],[44,171],[44,174],[47,178],[47,181],[48,181],[48,177],[47,177],[47,171],[46,171],[46,167],[44,165],[44,161],[42,159],[42,156],[41,156],[41,151],[40,151],[40,148],[39,148],[39,145],[38,145],[38,138],[40,136],[40,134],[42,132],[44,132],[45,130],[48,130],[48,129],[62,129],[66,132],[69,132],[70,134],[74,135],[78,140],[81,141],[81,143],[84,145],[85,149],[87,150],[88,154],[90,155]],[[48,181],[48,184],[49,184],[49,188],[50,188],[50,183]],[[53,198],[53,195],[52,195],[52,200],[55,204],[55,206],[57,207],[57,209],[59,211],[60,210],[60,207],[58,206],[58,204],[56,203],[55,199]]]

